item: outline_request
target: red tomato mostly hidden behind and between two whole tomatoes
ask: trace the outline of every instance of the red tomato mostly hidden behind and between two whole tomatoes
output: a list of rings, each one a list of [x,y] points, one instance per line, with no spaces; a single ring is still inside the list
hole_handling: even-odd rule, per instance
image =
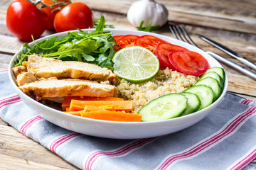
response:
[[[54,4],[53,0],[41,0],[41,2],[43,4],[46,4],[46,5],[53,5]],[[60,9],[64,7],[63,5],[60,5],[61,2],[63,2],[63,4],[64,3],[66,3],[66,4],[71,3],[70,0],[58,0],[56,3],[59,4],[59,5],[55,5],[55,6],[53,6],[53,8],[51,8],[50,6],[46,6],[46,7],[41,8],[41,10],[44,11],[47,14],[47,23],[46,23],[46,28],[47,29],[50,29],[50,30],[54,29],[54,26],[53,26],[54,17],[58,13],[58,11],[60,11]],[[40,7],[41,4],[38,4],[37,6]]]

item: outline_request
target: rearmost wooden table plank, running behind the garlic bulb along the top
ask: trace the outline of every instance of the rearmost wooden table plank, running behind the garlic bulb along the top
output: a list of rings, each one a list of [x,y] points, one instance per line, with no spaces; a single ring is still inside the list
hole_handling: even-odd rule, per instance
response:
[[[129,6],[136,0],[73,1],[82,1],[95,10],[126,14]],[[243,33],[256,33],[256,5],[253,1],[245,3],[227,0],[159,0],[158,2],[164,4],[168,9],[169,21],[223,30],[234,30],[235,28]]]

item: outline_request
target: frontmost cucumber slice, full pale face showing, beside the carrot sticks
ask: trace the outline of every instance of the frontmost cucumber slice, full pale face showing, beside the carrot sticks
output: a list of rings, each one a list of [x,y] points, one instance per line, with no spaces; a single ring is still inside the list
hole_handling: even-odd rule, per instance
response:
[[[142,115],[142,121],[176,118],[185,111],[187,102],[183,94],[166,94],[147,103],[138,114]]]

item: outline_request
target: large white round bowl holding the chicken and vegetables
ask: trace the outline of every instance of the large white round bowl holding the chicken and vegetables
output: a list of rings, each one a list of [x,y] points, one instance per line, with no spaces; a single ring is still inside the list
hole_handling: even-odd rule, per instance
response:
[[[174,38],[169,38],[164,35],[159,35],[155,33],[147,33],[143,31],[137,30],[121,30],[121,29],[106,29],[111,30],[113,35],[154,35],[158,38],[166,40],[167,42],[171,42],[174,45],[180,45],[182,47],[186,47],[188,50],[192,50],[200,53],[203,57],[208,60],[210,67],[221,67],[220,63],[217,62],[213,57],[203,52],[203,50],[194,47],[193,45],[189,45],[186,42],[182,42],[180,40],[176,40]],[[78,31],[78,30],[75,30]],[[87,30],[85,30],[87,31]],[[53,36],[58,36],[59,38],[64,38],[68,35],[68,32],[57,33],[54,35],[49,35],[44,38],[36,40],[36,42],[51,38]],[[29,45],[34,45],[31,42]],[[179,118],[172,118],[169,120],[159,120],[152,122],[116,122],[116,121],[106,121],[106,120],[95,120],[91,118],[82,118],[76,115],[70,115],[67,113],[63,113],[61,111],[57,111],[53,108],[45,106],[37,101],[34,101],[32,98],[23,94],[23,92],[18,89],[15,84],[15,76],[12,72],[12,67],[14,67],[14,61],[16,60],[16,56],[19,55],[19,52],[16,52],[14,57],[11,59],[9,64],[9,78],[11,79],[11,84],[14,86],[14,89],[21,97],[22,101],[27,104],[27,106],[33,108],[41,117],[48,120],[49,122],[58,125],[62,128],[72,130],[74,132],[79,132],[85,135],[92,135],[95,137],[107,137],[114,139],[138,139],[144,137],[156,137],[160,135],[167,135],[172,132],[177,132],[178,130],[183,130],[188,128],[189,126],[198,123],[198,121],[208,115],[210,111],[213,110],[220,101],[223,100],[225,93],[228,89],[228,78],[225,77],[225,86],[221,96],[212,103],[210,106],[203,108],[201,111],[197,111],[196,113],[192,113],[190,115],[185,115]],[[213,116],[213,115],[212,115]]]

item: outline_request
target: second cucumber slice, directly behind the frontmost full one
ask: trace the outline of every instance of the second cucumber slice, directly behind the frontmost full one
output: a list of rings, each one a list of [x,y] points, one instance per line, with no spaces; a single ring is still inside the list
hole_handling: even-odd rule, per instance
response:
[[[188,98],[188,106],[181,116],[198,111],[201,106],[200,98],[196,94],[192,94],[190,92],[183,92],[182,94]]]

